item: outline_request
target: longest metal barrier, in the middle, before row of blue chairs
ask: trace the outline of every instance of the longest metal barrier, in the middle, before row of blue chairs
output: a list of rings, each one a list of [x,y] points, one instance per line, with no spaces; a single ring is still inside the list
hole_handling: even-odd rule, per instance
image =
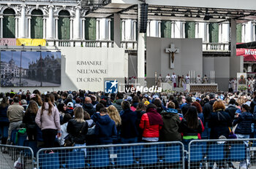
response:
[[[40,149],[37,169],[44,168],[184,168],[184,145],[176,141]]]

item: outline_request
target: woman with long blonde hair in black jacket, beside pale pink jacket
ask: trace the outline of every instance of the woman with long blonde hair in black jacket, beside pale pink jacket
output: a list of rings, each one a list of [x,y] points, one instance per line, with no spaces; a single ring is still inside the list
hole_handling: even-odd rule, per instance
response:
[[[74,119],[70,119],[67,124],[67,133],[69,140],[73,141],[74,146],[86,146],[86,134],[88,132],[88,124],[84,120],[83,108],[76,107],[74,109]]]

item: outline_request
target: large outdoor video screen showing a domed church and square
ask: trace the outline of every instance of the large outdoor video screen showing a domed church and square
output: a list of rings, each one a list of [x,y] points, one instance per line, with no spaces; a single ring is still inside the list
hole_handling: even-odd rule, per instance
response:
[[[61,85],[61,52],[1,51],[1,87]]]

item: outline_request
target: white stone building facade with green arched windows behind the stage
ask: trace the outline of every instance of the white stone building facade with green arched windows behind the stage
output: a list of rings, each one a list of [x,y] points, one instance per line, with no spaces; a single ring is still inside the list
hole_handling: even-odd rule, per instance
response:
[[[82,1],[84,3],[84,1]],[[87,4],[93,1],[86,1]],[[102,1],[104,3],[104,1]],[[120,32],[114,33],[113,18],[86,17],[90,6],[81,5],[76,0],[53,1],[1,1],[0,38],[47,39],[48,45],[64,46],[69,41],[113,41],[114,34],[120,34],[122,44],[133,49],[137,41],[137,20],[121,18]],[[238,23],[236,40],[238,43],[253,42],[255,21]],[[230,23],[184,22],[180,20],[148,20],[146,36],[162,38],[202,38],[203,49],[228,49]],[[129,43],[131,42],[131,43]],[[78,45],[83,45],[80,42]],[[67,44],[67,46],[73,46]],[[121,47],[124,47],[122,45]],[[208,48],[209,47],[209,48]],[[245,63],[244,71],[254,71],[255,63]]]

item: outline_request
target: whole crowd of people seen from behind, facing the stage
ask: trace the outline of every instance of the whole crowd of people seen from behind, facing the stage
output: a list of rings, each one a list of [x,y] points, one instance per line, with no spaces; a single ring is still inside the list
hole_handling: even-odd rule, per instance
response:
[[[10,144],[12,130],[20,127],[42,147],[182,141],[187,149],[194,139],[256,137],[256,92],[12,90],[1,93],[0,101],[1,144]]]

